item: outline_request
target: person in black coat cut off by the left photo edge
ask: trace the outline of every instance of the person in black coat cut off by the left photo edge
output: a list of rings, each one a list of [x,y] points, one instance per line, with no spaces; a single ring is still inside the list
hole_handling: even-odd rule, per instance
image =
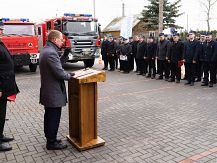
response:
[[[14,138],[9,138],[3,135],[7,98],[19,92],[14,73],[14,63],[11,59],[10,52],[7,50],[4,43],[1,41],[4,28],[0,27],[0,151],[9,151],[11,146],[3,144],[9,142]]]

